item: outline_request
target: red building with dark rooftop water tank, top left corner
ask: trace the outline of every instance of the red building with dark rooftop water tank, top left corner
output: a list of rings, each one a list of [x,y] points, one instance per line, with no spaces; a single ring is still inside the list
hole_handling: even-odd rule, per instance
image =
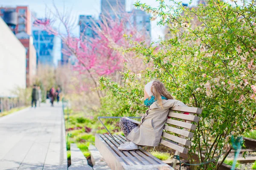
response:
[[[31,14],[28,6],[0,7],[0,16],[9,25],[9,21],[16,21],[16,25],[10,24],[14,34],[26,32],[31,35]]]

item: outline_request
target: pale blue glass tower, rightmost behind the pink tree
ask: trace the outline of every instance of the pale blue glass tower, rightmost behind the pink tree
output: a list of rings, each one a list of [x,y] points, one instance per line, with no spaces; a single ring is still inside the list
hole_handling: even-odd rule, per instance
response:
[[[130,22],[137,31],[144,33],[145,36],[151,37],[151,24],[150,24],[150,14],[146,11],[140,9],[133,9],[131,12]]]

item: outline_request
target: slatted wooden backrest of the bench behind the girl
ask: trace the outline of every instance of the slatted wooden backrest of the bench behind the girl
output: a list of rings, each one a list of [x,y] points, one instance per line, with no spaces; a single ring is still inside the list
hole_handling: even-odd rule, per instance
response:
[[[189,114],[183,114],[184,112]],[[171,108],[168,114],[168,119],[166,120],[166,125],[164,126],[160,144],[175,150],[175,155],[180,155],[180,153],[187,154],[191,139],[194,136],[194,133],[191,132],[191,130],[195,130],[197,127],[195,124],[192,124],[192,122],[199,121],[199,117],[194,114],[201,113],[201,108],[180,106]],[[177,159],[173,159],[172,162],[173,167],[175,167]]]

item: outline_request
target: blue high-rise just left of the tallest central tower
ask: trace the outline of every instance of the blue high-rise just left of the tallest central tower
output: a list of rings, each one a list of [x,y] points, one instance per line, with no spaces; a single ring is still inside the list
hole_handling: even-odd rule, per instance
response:
[[[79,16],[79,26],[80,26],[80,36],[82,37],[94,37],[95,32],[92,27],[96,24],[96,20],[91,15],[80,15]]]

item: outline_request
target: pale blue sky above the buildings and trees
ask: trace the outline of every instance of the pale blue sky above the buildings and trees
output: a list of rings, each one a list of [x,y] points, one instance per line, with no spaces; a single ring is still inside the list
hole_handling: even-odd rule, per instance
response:
[[[180,1],[180,0],[179,0]],[[48,8],[53,7],[53,0],[0,0],[0,6],[29,6],[32,13],[36,13],[37,18],[45,17],[46,6]],[[99,17],[101,0],[54,0],[55,5],[58,9],[66,8],[70,11],[70,15],[73,16],[76,24],[76,28],[73,30],[73,34],[79,35],[78,17],[79,15],[92,15],[94,18]],[[136,0],[126,0],[126,11],[131,11],[134,6],[133,4]],[[141,3],[146,3],[152,7],[157,7],[159,2],[156,0],[140,0]],[[183,3],[188,3],[189,0],[182,0]],[[170,4],[166,0],[166,4]],[[193,0],[192,5],[195,6],[197,0]],[[157,40],[158,37],[163,36],[163,27],[157,26],[157,20],[151,21],[151,39],[153,41]],[[56,40],[60,43],[60,40]],[[54,62],[58,62],[61,59],[61,48],[60,44],[56,48]]]

